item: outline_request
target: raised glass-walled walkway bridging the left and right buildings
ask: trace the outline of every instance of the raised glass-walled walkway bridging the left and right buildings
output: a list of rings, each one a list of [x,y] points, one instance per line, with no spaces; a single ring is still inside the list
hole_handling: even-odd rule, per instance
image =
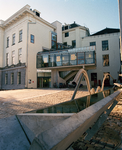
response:
[[[95,65],[95,46],[39,52],[37,69],[67,68]]]

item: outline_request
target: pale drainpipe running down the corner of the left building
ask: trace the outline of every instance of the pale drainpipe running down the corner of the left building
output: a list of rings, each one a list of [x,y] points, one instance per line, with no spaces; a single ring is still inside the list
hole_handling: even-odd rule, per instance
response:
[[[27,84],[27,88],[28,88],[28,44],[29,44],[29,24],[36,24],[36,22],[28,22],[27,23],[27,54],[26,54],[26,84]],[[25,84],[25,86],[26,86]]]

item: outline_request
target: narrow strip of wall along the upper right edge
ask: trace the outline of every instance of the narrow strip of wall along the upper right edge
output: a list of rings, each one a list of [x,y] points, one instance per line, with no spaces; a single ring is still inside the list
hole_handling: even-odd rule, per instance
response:
[[[121,43],[121,60],[122,60],[122,0],[118,0],[119,4],[119,22],[120,22],[120,43]]]

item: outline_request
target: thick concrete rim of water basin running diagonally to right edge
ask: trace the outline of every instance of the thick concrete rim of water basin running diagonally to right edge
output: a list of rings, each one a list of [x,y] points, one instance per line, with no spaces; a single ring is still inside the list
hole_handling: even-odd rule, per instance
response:
[[[89,127],[94,124],[94,122],[97,121],[99,116],[107,110],[114,101],[117,101],[117,96],[120,92],[122,92],[122,90],[118,90],[112,95],[100,100],[79,113],[75,113],[73,115],[70,114],[68,116],[66,116],[66,114],[62,114],[62,119],[60,118],[58,122],[56,122],[55,119],[52,119],[52,122],[54,121],[55,123],[48,124],[48,128],[45,128],[44,130],[38,130],[42,126],[40,121],[38,124],[39,127],[37,128],[38,133],[35,134],[35,138],[33,137],[34,140],[30,146],[30,150],[67,149],[69,145],[76,141],[87,129],[89,129]],[[32,116],[33,114],[18,115],[20,122],[22,122],[21,119],[27,115]],[[54,114],[52,114],[52,116],[53,115]],[[56,115],[57,114],[55,114],[55,116]],[[38,116],[40,116],[40,114],[38,114]],[[41,114],[41,117],[42,116],[45,117],[45,114]],[[43,126],[44,122],[42,122]]]

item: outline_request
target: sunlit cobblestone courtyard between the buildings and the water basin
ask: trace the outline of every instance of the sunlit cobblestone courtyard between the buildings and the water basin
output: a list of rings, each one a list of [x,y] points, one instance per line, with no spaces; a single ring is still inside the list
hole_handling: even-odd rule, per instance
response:
[[[88,92],[86,89],[82,89],[83,91],[79,90],[77,92],[76,98],[86,96],[88,95]],[[35,92],[35,90],[30,90],[31,92]],[[1,92],[1,91],[0,91]],[[12,95],[16,94],[22,94],[20,91],[4,91],[7,92],[8,97],[4,96],[4,98],[1,97],[0,95],[0,119],[5,118],[5,117],[10,117],[12,115],[20,114],[23,112],[28,112],[31,110],[36,110],[36,109],[41,109],[45,108],[51,105],[55,105],[58,103],[62,103],[68,100],[71,100],[71,97],[74,93],[74,89],[69,89],[69,90],[64,90],[64,91],[58,91],[55,92],[53,91],[53,94],[45,94],[45,92],[42,93],[42,95],[45,94],[45,96],[35,96],[34,94],[32,95],[32,98],[25,99],[24,96],[21,96],[22,98],[19,98],[19,96],[12,97]],[[18,93],[17,93],[18,92]],[[25,92],[25,91],[23,91]],[[37,93],[37,95],[40,95]],[[11,98],[12,97],[12,98]],[[29,96],[30,97],[30,96]]]

